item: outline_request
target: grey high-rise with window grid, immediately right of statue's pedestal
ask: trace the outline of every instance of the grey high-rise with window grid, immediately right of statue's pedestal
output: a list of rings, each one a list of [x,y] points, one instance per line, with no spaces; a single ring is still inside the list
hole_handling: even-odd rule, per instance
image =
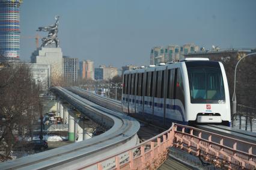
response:
[[[63,56],[64,79],[66,82],[78,82],[78,58]]]

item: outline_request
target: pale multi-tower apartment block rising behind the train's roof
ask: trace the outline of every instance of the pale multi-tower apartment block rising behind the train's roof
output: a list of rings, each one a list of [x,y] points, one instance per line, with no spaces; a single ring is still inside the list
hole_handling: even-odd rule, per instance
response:
[[[183,46],[169,45],[153,47],[150,52],[150,64],[160,62],[178,61],[184,54],[197,52],[199,47],[195,44],[184,44]]]

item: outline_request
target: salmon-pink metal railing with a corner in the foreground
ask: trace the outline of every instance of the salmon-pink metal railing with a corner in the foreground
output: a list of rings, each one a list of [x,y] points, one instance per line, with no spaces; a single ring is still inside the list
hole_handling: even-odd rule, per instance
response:
[[[212,163],[216,168],[256,168],[256,144],[195,127],[172,124],[172,127],[154,138],[82,169],[156,169],[168,157],[169,147],[181,148]],[[112,163],[106,164],[109,160]]]

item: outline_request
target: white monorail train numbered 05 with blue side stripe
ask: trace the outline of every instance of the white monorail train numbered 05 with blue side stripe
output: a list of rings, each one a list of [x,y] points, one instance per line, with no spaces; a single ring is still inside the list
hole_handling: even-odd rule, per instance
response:
[[[162,127],[171,123],[230,126],[224,66],[208,58],[185,58],[124,71],[122,109]]]

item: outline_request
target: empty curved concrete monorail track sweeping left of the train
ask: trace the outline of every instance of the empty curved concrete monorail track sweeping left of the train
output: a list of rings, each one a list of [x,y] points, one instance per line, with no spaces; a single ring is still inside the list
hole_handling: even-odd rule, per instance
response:
[[[108,120],[112,120],[113,126],[102,135],[82,142],[0,163],[0,169],[80,169],[84,166],[96,169],[97,165],[90,166],[90,162],[99,161],[102,157],[108,157],[137,144],[139,123],[135,119],[82,99],[64,88],[55,87],[54,91],[79,108],[82,114],[94,112],[94,117],[96,114],[104,115]],[[120,155],[121,157],[124,159],[127,155]],[[113,161],[109,159],[102,162],[102,165],[111,166]]]

